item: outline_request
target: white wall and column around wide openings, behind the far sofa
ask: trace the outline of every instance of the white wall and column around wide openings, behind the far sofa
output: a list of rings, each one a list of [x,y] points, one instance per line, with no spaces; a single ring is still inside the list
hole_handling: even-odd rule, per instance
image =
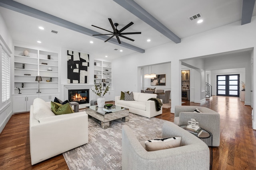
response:
[[[112,62],[115,95],[119,94],[122,89],[130,91],[140,89],[140,87],[138,88],[139,82],[136,77],[138,75],[138,66],[171,62],[171,93],[172,99],[176,99],[172,100],[171,112],[174,113],[174,107],[176,105],[181,105],[180,60],[205,56],[214,57],[222,53],[229,53],[232,51],[239,52],[240,50],[249,48],[252,49],[256,47],[255,27],[256,17],[253,17],[252,22],[245,25],[241,25],[241,22],[238,21],[223,27],[186,37],[178,44],[171,42],[151,49],[146,49],[145,53],[134,53],[125,57],[120,57]],[[197,48],[195,48],[195,46]],[[255,53],[253,58],[256,58]],[[255,94],[256,93],[254,92],[254,95]]]

